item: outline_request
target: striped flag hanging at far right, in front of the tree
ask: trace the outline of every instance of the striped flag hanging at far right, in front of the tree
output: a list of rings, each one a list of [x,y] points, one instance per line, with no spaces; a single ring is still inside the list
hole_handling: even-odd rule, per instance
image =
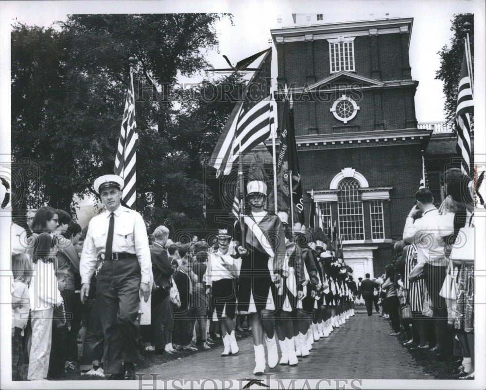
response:
[[[474,102],[472,99],[471,78],[468,71],[470,56],[468,47],[462,59],[461,76],[459,79],[459,93],[457,95],[456,110],[456,129],[457,129],[457,153],[461,156],[461,170],[465,175],[469,175],[473,167],[471,156],[471,119],[470,115],[474,112]]]

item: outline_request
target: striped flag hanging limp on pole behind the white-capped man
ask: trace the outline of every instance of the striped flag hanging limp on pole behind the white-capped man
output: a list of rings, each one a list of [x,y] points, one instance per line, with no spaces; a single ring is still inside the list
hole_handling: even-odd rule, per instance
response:
[[[139,138],[135,132],[135,94],[133,91],[133,68],[130,67],[130,85],[126,94],[125,110],[121,121],[120,138],[118,139],[118,150],[115,158],[115,175],[120,176],[125,185],[123,187],[122,200],[131,209],[135,209],[137,198],[137,175],[135,162],[137,154],[135,141]]]

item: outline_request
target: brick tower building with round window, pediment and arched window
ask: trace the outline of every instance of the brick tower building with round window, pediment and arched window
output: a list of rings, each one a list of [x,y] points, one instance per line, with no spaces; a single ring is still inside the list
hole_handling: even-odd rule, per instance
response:
[[[293,91],[306,212],[312,189],[321,227],[336,221],[355,278],[377,277],[415,203],[433,132],[417,127],[413,19],[311,23],[271,31],[277,81]]]

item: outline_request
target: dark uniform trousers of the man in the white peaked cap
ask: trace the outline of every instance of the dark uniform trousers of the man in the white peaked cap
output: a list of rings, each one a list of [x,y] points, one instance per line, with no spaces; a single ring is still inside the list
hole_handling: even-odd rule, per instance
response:
[[[104,260],[96,300],[104,335],[104,373],[122,374],[123,362],[137,363],[139,351],[140,264],[137,258]]]

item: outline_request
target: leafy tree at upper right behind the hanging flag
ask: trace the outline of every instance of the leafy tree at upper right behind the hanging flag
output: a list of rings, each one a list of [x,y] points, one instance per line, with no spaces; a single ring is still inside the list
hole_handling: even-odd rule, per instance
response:
[[[443,92],[446,97],[444,111],[448,121],[453,121],[457,107],[457,87],[461,73],[462,58],[464,55],[464,39],[469,33],[472,64],[474,64],[474,15],[454,15],[451,20],[451,48],[445,45],[439,52],[440,69],[435,72],[435,79],[444,82]]]

